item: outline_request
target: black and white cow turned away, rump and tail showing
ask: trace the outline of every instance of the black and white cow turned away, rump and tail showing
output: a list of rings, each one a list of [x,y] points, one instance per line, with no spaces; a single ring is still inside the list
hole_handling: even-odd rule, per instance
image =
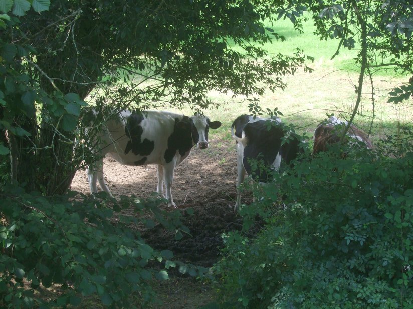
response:
[[[269,123],[270,122],[270,123]],[[234,211],[241,204],[240,186],[245,173],[259,182],[271,181],[266,168],[253,168],[252,160],[262,160],[264,167],[278,170],[283,159],[287,164],[304,152],[301,140],[292,138],[282,144],[282,138],[288,135],[277,117],[254,119],[253,116],[241,115],[231,125],[231,133],[237,142],[237,201]]]

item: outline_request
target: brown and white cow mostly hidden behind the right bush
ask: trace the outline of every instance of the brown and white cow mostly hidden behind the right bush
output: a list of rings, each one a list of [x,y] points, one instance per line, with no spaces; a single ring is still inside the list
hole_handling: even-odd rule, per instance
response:
[[[338,143],[341,138],[341,132],[343,132],[342,130],[344,130],[347,124],[347,121],[341,121],[335,116],[330,117],[328,123],[320,123],[314,131],[313,155],[327,151],[328,145]],[[347,136],[363,142],[368,149],[373,149],[373,145],[367,135],[354,125],[351,125],[348,129]]]

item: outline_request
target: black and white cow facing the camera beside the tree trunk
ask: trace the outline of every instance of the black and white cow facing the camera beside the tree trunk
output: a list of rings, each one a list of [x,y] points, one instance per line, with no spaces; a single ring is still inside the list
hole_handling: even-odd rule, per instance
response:
[[[175,167],[194,145],[199,149],[208,148],[209,128],[220,126],[221,122],[211,122],[201,115],[188,117],[167,111],[124,110],[115,119],[106,121],[93,150],[100,157],[110,156],[122,165],[157,164],[156,191],[168,200],[169,206],[176,208],[171,192]],[[112,196],[103,179],[103,159],[89,166],[88,180],[92,194],[97,192],[96,181],[99,181],[102,190]]]

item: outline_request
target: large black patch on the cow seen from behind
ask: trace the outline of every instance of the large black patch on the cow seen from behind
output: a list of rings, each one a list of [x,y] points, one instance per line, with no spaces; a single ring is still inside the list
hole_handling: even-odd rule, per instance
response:
[[[283,129],[278,123],[267,122],[260,120],[244,126],[245,136],[248,138],[248,145],[244,148],[244,168],[253,179],[260,182],[271,180],[267,171],[280,151],[281,138],[284,137]],[[257,160],[261,162],[259,167],[264,168],[255,168],[251,165]]]

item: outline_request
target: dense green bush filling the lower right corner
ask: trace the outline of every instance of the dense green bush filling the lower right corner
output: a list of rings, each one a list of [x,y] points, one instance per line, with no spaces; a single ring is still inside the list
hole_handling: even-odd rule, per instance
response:
[[[216,307],[413,307],[413,153],[335,150],[275,174],[244,205],[266,225],[254,239],[224,236]]]

